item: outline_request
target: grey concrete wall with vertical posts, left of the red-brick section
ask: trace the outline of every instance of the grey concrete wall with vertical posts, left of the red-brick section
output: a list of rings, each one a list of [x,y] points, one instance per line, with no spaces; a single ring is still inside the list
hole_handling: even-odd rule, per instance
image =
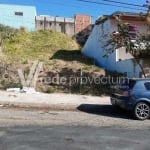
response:
[[[73,18],[36,16],[36,30],[53,30],[74,35],[74,28],[75,23]]]

